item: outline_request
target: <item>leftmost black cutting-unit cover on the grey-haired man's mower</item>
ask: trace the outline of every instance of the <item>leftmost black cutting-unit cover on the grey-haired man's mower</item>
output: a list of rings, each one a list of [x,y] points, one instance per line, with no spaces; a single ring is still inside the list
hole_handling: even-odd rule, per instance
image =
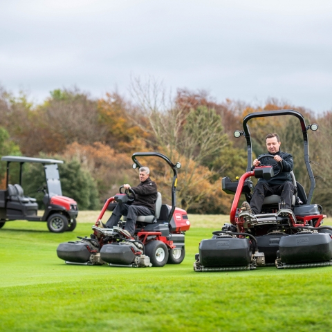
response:
[[[75,263],[86,263],[89,261],[92,250],[92,246],[89,243],[76,242],[64,242],[60,243],[57,247],[57,257],[64,261],[73,261]]]

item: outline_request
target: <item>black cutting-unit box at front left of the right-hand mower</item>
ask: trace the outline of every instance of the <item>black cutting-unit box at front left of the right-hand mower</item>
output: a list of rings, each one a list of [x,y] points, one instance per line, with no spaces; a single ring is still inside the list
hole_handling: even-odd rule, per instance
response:
[[[248,239],[219,237],[199,243],[202,266],[248,266],[252,261],[252,246]]]

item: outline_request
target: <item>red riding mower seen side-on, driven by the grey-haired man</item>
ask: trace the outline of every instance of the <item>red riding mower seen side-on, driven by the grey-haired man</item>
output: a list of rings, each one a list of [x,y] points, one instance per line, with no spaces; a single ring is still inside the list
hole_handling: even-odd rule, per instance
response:
[[[102,228],[102,216],[116,204],[131,203],[135,200],[135,192],[129,190],[111,197],[106,201],[95,225],[92,226],[91,237],[79,237],[79,241],[60,243],[57,256],[66,264],[102,265],[127,267],[162,267],[165,264],[181,264],[185,258],[185,231],[190,228],[190,221],[185,210],[176,208],[177,169],[169,158],[158,152],[137,152],[131,157],[133,168],[142,167],[136,157],[159,157],[166,161],[173,170],[172,206],[162,204],[158,192],[156,212],[151,216],[138,216],[134,239],[127,239],[122,230],[127,220],[113,228]]]

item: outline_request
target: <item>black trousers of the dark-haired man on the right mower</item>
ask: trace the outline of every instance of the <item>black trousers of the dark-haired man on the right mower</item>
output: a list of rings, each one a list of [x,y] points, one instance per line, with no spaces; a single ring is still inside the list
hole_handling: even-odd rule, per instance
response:
[[[278,195],[281,196],[281,200],[285,202],[285,208],[291,209],[294,194],[295,186],[289,181],[286,181],[282,185],[269,185],[268,183],[259,182],[252,193],[250,208],[253,214],[259,214],[264,198],[270,195]]]

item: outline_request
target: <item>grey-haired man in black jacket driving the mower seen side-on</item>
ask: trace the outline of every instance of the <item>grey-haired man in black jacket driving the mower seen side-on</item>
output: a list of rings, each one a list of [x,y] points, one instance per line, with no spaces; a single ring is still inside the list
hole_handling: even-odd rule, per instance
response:
[[[111,218],[107,221],[107,228],[113,228],[120,221],[121,216],[127,216],[127,222],[124,226],[124,234],[131,238],[135,233],[136,219],[138,216],[154,215],[155,203],[157,199],[157,185],[149,178],[149,167],[140,167],[140,184],[137,187],[131,187],[129,184],[123,185],[124,189],[130,189],[135,192],[135,201],[131,205],[118,204],[113,210]]]

